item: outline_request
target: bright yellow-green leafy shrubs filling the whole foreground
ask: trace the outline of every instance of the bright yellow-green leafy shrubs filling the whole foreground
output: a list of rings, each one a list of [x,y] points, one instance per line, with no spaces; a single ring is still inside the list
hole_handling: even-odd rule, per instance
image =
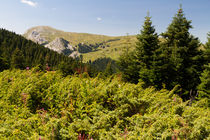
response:
[[[0,139],[210,139],[209,115],[207,99],[189,106],[117,76],[0,73]]]

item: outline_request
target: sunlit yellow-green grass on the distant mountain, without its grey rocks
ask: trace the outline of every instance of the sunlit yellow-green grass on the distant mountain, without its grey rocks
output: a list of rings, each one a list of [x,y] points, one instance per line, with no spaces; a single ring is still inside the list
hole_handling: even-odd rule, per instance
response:
[[[41,29],[41,36],[45,37],[48,41],[54,40],[56,37],[62,37],[70,42],[72,45],[77,45],[79,43],[87,43],[87,44],[96,44],[101,42],[107,42],[107,47],[105,49],[100,48],[98,51],[90,52],[83,54],[84,61],[95,60],[100,57],[110,57],[114,60],[117,60],[122,53],[124,47],[128,46],[126,41],[130,41],[129,46],[134,46],[136,42],[135,36],[129,36],[130,39],[127,39],[126,36],[119,37],[111,37],[104,35],[95,35],[88,33],[73,33],[73,32],[64,32],[60,30],[56,30],[54,28],[48,26],[38,26],[29,29],[24,36],[27,36],[34,29]],[[131,47],[132,49],[133,47]]]

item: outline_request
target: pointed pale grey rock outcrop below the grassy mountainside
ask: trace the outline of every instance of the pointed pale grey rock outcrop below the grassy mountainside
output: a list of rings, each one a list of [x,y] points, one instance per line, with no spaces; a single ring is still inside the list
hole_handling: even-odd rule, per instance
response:
[[[45,45],[45,47],[65,55],[70,55],[72,52],[76,51],[76,48],[71,46],[69,42],[63,38],[56,38],[49,44]]]

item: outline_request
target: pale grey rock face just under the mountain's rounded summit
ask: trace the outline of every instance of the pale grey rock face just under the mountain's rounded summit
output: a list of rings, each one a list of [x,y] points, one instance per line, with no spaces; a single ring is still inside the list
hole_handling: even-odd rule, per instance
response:
[[[40,33],[37,31],[32,31],[31,34],[29,34],[27,38],[40,45],[44,45],[48,43],[48,41],[45,38],[41,37]]]

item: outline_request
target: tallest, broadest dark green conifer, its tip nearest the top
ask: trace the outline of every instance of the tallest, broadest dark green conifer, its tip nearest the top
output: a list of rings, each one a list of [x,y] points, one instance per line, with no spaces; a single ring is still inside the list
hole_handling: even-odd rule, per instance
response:
[[[165,43],[162,46],[166,69],[164,82],[168,89],[180,85],[184,91],[195,90],[199,84],[202,67],[200,42],[190,34],[191,21],[184,16],[180,7],[167,31],[162,34]]]

